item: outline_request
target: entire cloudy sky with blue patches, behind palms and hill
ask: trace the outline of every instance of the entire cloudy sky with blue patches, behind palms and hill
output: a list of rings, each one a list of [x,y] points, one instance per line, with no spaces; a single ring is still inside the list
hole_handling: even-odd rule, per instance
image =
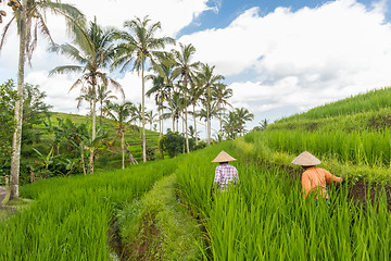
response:
[[[63,0],[97,16],[102,26],[122,28],[124,21],[149,15],[162,35],[192,44],[195,60],[216,66],[232,88],[234,107],[270,121],[306,111],[369,89],[391,86],[390,0]],[[8,7],[3,3],[4,10]],[[4,20],[10,18],[10,15]],[[62,18],[48,15],[52,37],[70,42]],[[5,23],[0,25],[0,29]],[[15,32],[15,27],[12,27]],[[39,85],[54,111],[77,113],[77,75],[48,77],[48,71],[73,64],[48,53],[40,37],[26,82]],[[16,79],[17,38],[10,34],[0,55],[0,82]],[[126,98],[141,101],[140,78],[112,75]],[[153,100],[147,101],[153,108]],[[79,111],[84,113],[84,111]],[[168,124],[167,124],[168,125]]]

